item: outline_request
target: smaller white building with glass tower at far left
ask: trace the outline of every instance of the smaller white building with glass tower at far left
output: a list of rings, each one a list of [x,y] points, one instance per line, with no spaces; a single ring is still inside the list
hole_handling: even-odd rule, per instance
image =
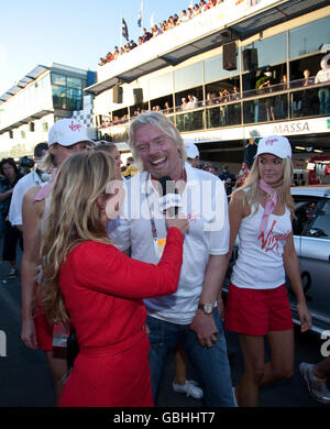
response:
[[[61,118],[75,117],[95,138],[92,96],[84,92],[94,82],[94,72],[56,63],[37,65],[0,97],[0,157],[33,154]]]

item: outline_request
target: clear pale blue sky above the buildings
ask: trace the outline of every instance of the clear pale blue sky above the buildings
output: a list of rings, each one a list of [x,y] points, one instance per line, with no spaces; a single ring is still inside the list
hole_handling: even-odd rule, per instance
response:
[[[153,13],[160,23],[189,4],[190,0],[143,0],[143,26],[150,29]],[[0,96],[38,64],[96,70],[99,58],[121,42],[122,16],[130,40],[138,42],[140,8],[141,0],[2,1]]]

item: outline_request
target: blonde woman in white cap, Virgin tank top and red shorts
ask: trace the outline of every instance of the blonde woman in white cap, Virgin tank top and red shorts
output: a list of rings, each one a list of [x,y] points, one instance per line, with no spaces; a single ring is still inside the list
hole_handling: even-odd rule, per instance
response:
[[[293,318],[287,274],[297,298],[301,331],[310,328],[294,246],[290,196],[292,147],[286,138],[261,139],[249,178],[229,205],[230,252],[239,234],[226,307],[226,327],[239,333],[244,371],[235,396],[240,406],[257,406],[258,388],[294,372]],[[264,362],[264,337],[271,362]]]

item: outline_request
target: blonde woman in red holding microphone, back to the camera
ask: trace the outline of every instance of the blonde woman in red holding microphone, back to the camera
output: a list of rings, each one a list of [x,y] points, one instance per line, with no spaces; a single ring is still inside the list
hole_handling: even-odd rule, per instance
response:
[[[142,299],[176,292],[188,221],[167,219],[157,265],[132,260],[107,234],[123,194],[119,168],[103,151],[67,158],[53,185],[40,294],[50,322],[70,323],[79,345],[63,407],[153,406]]]

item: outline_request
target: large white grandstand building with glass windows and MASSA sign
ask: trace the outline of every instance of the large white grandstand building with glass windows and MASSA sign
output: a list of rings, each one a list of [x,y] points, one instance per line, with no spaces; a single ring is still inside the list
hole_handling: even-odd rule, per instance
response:
[[[100,66],[86,89],[95,95],[96,124],[124,150],[138,109],[161,109],[202,162],[234,173],[249,141],[277,133],[289,138],[304,168],[309,157],[330,155],[330,81],[315,80],[330,53],[329,29],[326,0],[224,0]],[[265,72],[272,88],[261,90]],[[189,94],[198,108],[184,112]]]

